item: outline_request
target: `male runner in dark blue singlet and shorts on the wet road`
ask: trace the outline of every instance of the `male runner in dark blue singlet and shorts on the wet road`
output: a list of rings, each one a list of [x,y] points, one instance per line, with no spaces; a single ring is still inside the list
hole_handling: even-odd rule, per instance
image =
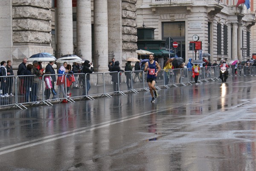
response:
[[[158,68],[158,71],[157,71]],[[157,73],[160,72],[161,67],[157,63],[157,61],[154,60],[154,55],[150,54],[149,55],[149,61],[145,63],[145,68],[144,71],[148,71],[147,74],[147,82],[148,82],[148,87],[150,90],[150,94],[152,96],[151,102],[155,101],[155,98],[158,97],[157,90],[155,88],[156,80],[157,80]],[[153,94],[154,90],[154,94]]]

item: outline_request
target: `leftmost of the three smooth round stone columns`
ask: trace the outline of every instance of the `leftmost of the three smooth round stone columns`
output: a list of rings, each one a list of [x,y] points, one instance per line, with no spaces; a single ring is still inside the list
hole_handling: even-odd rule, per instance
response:
[[[57,0],[57,51],[73,54],[72,0]]]

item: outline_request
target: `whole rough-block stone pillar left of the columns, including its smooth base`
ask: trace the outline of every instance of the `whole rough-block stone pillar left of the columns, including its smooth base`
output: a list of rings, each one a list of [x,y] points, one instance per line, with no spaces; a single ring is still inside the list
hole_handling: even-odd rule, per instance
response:
[[[52,53],[51,8],[52,0],[12,0],[13,64],[36,53]]]

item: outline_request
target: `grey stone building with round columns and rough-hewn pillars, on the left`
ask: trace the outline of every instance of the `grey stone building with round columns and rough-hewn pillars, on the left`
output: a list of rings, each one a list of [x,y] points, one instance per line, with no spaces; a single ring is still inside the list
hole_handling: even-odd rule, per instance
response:
[[[108,70],[109,52],[120,63],[137,57],[137,0],[1,0],[0,60],[14,68],[24,57],[77,54]]]

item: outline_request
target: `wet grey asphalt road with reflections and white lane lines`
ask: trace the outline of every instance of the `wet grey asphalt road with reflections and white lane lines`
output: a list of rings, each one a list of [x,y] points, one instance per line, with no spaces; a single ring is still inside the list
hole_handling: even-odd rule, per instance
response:
[[[254,171],[256,77],[0,111],[0,171]]]

